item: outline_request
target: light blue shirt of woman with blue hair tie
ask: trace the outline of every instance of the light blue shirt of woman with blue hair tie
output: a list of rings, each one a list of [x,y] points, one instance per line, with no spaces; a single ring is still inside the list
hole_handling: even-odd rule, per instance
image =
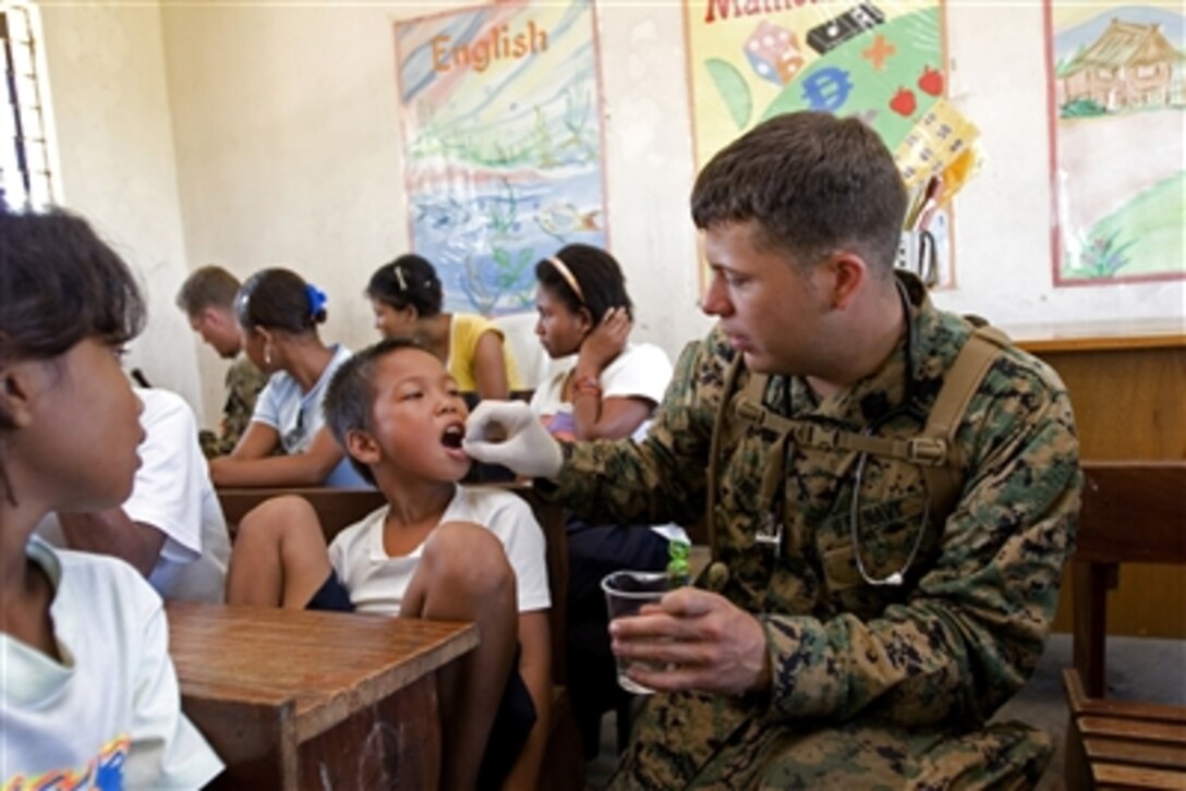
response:
[[[350,359],[351,355],[342,344],[333,344],[330,350],[333,357],[308,393],[301,393],[300,383],[289,374],[276,371],[255,401],[251,420],[276,429],[285,453],[292,455],[307,451],[313,435],[325,425],[325,414],[321,412],[325,391],[330,387],[333,372]],[[350,466],[350,459],[346,457],[342,458],[324,483],[326,486],[338,489],[372,489],[366,479]]]

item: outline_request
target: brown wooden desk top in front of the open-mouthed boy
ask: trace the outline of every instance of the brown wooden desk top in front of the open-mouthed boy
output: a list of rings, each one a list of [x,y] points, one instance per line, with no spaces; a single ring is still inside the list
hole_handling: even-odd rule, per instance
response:
[[[292,707],[298,742],[478,645],[473,624],[170,602],[185,698]]]

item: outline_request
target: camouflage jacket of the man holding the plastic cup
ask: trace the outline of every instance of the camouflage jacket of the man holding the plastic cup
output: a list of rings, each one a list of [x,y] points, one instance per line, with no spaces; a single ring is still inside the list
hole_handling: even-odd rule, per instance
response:
[[[907,390],[905,343],[879,371],[828,398],[799,378],[772,376],[764,404],[824,427],[876,425],[879,436],[917,435],[974,326],[937,311],[917,279],[905,280],[913,409],[898,409]],[[734,356],[716,330],[690,345],[649,436],[566,446],[555,489],[541,485],[544,496],[592,518],[695,522],[706,508],[709,444]],[[738,390],[748,376],[741,371]],[[956,434],[963,491],[954,511],[926,529],[900,587],[868,585],[855,553],[873,578],[901,569],[925,519],[917,467],[869,458],[857,548],[855,455],[789,442],[773,506],[783,523],[776,551],[755,542],[758,490],[776,435],[758,426],[727,435],[710,515],[713,554],[729,570],[721,592],[766,627],[773,688],[728,700],[653,696],[645,722],[655,727],[637,732],[630,760],[643,760],[650,741],[652,754],[680,757],[659,774],[688,785],[746,727],[859,717],[906,732],[967,732],[1022,685],[1042,651],[1079,505],[1071,404],[1052,370],[1012,346],[993,363]]]

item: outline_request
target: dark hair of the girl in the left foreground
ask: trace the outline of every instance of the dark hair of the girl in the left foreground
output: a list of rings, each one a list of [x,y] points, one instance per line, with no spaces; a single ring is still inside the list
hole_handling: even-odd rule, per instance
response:
[[[0,204],[0,262],[2,362],[57,357],[84,338],[117,346],[144,328],[128,264],[77,215]]]

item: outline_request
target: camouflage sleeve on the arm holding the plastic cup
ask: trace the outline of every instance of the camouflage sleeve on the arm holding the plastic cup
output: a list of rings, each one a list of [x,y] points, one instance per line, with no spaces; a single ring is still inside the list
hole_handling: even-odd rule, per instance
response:
[[[1065,388],[1012,350],[981,384],[956,441],[971,460],[962,497],[898,601],[872,617],[844,607],[761,615],[773,670],[766,716],[843,720],[867,709],[898,725],[967,727],[1029,676],[1079,506]]]

